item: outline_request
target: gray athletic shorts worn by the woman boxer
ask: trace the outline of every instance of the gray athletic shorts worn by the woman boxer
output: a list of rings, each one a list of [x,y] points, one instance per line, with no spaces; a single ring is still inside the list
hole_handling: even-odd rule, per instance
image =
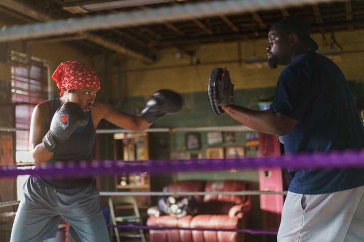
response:
[[[77,242],[110,241],[94,183],[80,189],[57,190],[30,176],[23,193],[11,242],[39,242],[56,237],[61,217],[69,224],[69,233]]]

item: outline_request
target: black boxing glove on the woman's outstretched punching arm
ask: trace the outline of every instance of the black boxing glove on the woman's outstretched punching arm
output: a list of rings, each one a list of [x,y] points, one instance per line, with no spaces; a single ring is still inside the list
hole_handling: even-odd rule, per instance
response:
[[[182,108],[182,97],[168,89],[161,89],[154,93],[147,101],[141,112],[142,118],[153,123],[164,114],[174,114]]]

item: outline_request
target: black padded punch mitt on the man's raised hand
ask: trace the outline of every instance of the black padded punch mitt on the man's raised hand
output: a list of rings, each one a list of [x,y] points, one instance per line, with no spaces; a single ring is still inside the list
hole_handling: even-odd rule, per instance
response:
[[[234,84],[232,84],[229,71],[222,68],[214,68],[211,71],[208,86],[208,95],[212,111],[221,115],[225,111],[221,105],[235,104]]]

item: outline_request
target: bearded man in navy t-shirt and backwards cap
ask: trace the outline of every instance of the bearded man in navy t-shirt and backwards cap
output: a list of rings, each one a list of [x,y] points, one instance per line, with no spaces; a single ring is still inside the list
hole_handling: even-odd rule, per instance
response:
[[[269,110],[220,107],[243,125],[280,136],[286,153],[362,149],[364,128],[346,78],[331,59],[314,52],[309,29],[290,16],[269,30],[268,64],[286,66]],[[364,241],[364,169],[289,173],[278,242]]]

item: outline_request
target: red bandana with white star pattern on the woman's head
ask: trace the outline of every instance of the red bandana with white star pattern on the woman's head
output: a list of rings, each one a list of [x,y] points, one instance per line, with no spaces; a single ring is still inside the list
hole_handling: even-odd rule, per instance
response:
[[[96,88],[100,89],[100,79],[90,66],[77,61],[61,63],[52,75],[63,96],[65,90]]]

